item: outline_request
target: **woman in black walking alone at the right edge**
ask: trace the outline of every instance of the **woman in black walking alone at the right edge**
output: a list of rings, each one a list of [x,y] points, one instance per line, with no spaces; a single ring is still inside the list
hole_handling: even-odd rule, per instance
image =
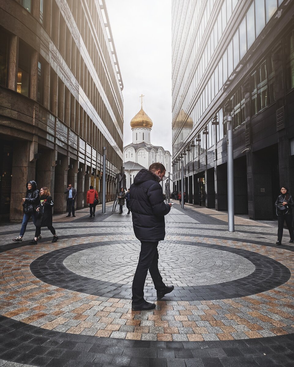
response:
[[[276,203],[276,213],[278,217],[278,240],[276,245],[282,245],[284,222],[286,222],[289,235],[290,243],[294,242],[294,229],[292,226],[293,221],[293,211],[294,206],[293,197],[288,193],[288,189],[285,186],[281,187],[281,195],[278,196]]]

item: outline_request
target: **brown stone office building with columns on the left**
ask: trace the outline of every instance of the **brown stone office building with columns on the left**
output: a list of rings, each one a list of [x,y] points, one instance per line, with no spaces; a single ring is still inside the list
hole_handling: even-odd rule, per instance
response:
[[[107,200],[123,157],[123,82],[104,0],[0,4],[0,219],[22,218],[26,182],[47,186],[54,211],[90,185]],[[106,146],[106,172],[102,172]],[[102,183],[102,182],[101,182]]]

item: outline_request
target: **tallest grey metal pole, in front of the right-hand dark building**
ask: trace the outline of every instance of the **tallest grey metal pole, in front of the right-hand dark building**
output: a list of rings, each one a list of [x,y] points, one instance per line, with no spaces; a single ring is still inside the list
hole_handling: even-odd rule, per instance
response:
[[[227,116],[227,159],[228,159],[228,229],[235,232],[234,222],[234,158],[233,158],[233,117]]]

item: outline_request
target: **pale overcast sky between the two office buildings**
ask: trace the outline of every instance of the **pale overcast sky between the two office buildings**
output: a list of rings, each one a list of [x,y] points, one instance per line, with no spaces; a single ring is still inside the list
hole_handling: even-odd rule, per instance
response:
[[[172,153],[171,0],[106,0],[106,7],[124,84],[124,146],[143,94],[151,143]]]

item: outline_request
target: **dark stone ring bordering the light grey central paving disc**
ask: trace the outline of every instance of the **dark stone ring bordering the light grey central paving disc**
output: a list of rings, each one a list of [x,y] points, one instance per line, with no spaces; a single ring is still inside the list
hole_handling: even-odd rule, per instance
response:
[[[286,266],[257,252],[199,242],[168,242],[231,252],[249,260],[255,266],[255,270],[248,276],[224,283],[175,287],[170,297],[164,297],[166,301],[208,301],[246,297],[278,287],[286,283],[291,276],[290,270]],[[117,244],[117,241],[79,244],[78,246],[70,246],[48,252],[35,259],[30,264],[30,270],[35,277],[44,281],[44,283],[56,287],[101,297],[131,299],[130,285],[83,277],[73,273],[63,264],[66,257],[76,252],[113,244]],[[147,299],[156,297],[155,289],[153,287],[145,287],[145,296]]]

